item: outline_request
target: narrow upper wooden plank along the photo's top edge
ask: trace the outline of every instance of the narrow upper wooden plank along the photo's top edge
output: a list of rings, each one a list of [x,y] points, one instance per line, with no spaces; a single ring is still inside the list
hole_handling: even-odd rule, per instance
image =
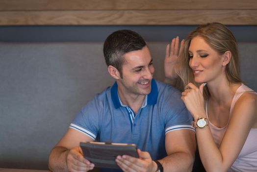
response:
[[[257,0],[0,0],[0,11],[154,9],[257,9]]]

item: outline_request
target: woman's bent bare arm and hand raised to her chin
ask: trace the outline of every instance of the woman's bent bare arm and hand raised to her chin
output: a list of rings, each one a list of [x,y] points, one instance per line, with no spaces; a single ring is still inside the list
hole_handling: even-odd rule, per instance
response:
[[[202,90],[203,85],[199,89],[191,84],[190,89],[186,89],[181,97],[195,119],[206,117]],[[196,102],[200,102],[199,105]],[[214,143],[209,126],[196,129],[200,157],[207,172],[228,171],[240,153],[251,128],[257,122],[256,107],[257,96],[255,94],[244,93],[238,99],[219,148]]]

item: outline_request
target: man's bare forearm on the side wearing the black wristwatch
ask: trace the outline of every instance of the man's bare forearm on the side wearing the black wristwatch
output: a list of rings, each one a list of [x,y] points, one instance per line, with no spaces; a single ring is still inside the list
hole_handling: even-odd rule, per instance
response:
[[[191,172],[194,156],[186,152],[177,152],[158,161],[162,164],[164,172]]]

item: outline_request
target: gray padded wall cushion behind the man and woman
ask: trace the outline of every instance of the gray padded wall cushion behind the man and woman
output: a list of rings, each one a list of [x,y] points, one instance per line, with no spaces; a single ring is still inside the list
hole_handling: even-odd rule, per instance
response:
[[[163,80],[166,42],[149,42]],[[257,90],[257,43],[239,43],[241,76]],[[78,111],[111,86],[103,42],[0,43],[0,168],[48,169]]]

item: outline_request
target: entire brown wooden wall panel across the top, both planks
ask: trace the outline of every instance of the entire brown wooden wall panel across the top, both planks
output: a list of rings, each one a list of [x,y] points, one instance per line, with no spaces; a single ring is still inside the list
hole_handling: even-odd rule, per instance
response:
[[[0,25],[257,25],[257,0],[0,0]]]

